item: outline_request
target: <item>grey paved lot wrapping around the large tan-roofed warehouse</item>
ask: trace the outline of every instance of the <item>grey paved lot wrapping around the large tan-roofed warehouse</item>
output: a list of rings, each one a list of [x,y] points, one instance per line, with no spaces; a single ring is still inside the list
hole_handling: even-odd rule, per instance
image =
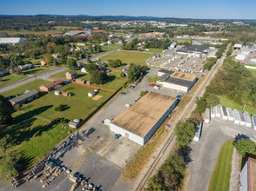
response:
[[[138,100],[142,90],[154,91],[163,95],[176,96],[180,92],[173,89],[154,89],[147,82],[148,76],[154,76],[159,69],[150,69],[142,82],[134,88],[128,88],[124,94],[118,94],[98,111],[90,121],[86,122],[79,129],[76,135],[70,135],[64,142],[52,152],[51,161],[61,167],[71,169],[71,175],[79,172],[89,179],[97,188],[101,190],[129,190],[129,184],[122,181],[121,170],[131,161],[134,155],[141,148],[135,142],[120,137],[115,139],[115,134],[109,127],[102,124],[104,119],[113,119],[125,109],[125,104],[133,104]],[[62,172],[46,188],[42,188],[39,177],[31,181],[24,182],[18,188],[13,188],[10,184],[0,184],[1,190],[70,190],[72,182],[65,172]],[[125,185],[125,186],[124,186]],[[82,190],[78,187],[77,190]]]

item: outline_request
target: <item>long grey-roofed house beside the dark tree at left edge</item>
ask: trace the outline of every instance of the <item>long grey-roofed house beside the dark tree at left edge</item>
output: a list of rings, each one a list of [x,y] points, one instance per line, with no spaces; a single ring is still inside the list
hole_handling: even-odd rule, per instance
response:
[[[10,99],[11,105],[19,104],[23,105],[27,102],[31,102],[39,97],[37,90],[26,90],[23,95],[18,95]]]

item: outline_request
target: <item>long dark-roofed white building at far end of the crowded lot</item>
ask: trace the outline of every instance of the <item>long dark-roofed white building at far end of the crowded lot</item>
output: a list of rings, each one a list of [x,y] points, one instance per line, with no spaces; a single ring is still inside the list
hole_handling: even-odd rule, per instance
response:
[[[201,56],[202,54],[207,54],[210,50],[208,46],[200,46],[200,45],[185,45],[181,49],[177,50],[177,53],[182,55],[194,54]]]

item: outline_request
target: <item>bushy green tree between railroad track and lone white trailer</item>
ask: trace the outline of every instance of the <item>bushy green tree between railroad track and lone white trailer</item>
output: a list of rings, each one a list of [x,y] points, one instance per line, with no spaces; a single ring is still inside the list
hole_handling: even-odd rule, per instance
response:
[[[186,119],[176,123],[174,133],[181,148],[189,145],[192,137],[195,135],[197,125],[198,122],[194,119]]]

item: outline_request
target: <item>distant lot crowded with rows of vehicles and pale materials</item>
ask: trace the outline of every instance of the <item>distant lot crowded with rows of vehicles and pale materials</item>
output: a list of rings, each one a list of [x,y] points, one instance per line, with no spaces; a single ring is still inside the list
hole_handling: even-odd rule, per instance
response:
[[[199,73],[203,69],[203,64],[208,56],[215,56],[218,49],[211,49],[205,56],[195,57],[180,55],[177,49],[183,46],[178,46],[175,49],[168,49],[159,54],[160,56],[152,57],[147,60],[149,66],[161,67],[165,69],[180,69],[187,73]],[[180,64],[182,61],[184,63]]]

